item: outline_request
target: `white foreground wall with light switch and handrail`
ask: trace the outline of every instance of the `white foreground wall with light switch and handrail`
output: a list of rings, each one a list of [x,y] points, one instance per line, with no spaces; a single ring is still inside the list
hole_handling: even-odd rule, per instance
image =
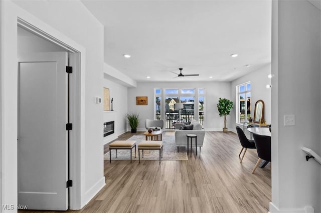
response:
[[[321,212],[320,10],[306,0],[272,1],[272,202],[270,212]],[[295,126],[283,116],[295,115]]]

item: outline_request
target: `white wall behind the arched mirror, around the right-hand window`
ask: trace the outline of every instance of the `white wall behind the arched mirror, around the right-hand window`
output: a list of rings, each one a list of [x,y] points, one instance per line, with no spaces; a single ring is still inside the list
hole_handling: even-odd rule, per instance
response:
[[[271,124],[271,88],[266,88],[267,84],[271,84],[271,79],[267,77],[271,73],[271,64],[267,64],[256,71],[250,72],[231,83],[232,101],[237,103],[236,86],[251,81],[251,117],[254,117],[254,105],[259,99],[264,101],[264,119],[267,124]],[[231,113],[231,122],[236,123],[236,106]],[[242,125],[243,126],[243,125]],[[235,128],[233,131],[236,132]]]

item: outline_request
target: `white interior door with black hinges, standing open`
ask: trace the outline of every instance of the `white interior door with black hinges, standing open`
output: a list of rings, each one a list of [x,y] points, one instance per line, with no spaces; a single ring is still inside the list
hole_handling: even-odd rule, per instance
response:
[[[18,204],[68,209],[67,52],[19,58]]]

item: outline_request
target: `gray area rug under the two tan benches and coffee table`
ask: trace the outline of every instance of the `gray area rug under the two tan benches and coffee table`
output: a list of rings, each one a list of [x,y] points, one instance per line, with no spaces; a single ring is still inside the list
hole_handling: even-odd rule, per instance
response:
[[[142,140],[145,140],[144,135],[134,135],[128,140],[136,140],[136,158],[135,151],[132,149],[132,160],[138,160],[138,144]],[[162,160],[188,160],[187,147],[180,146],[180,152],[177,152],[177,146],[175,144],[175,136],[163,135],[163,158]],[[159,160],[159,150],[144,150],[144,158],[141,157],[140,150],[140,160]],[[130,160],[130,150],[125,149],[117,150],[117,158],[115,155],[115,150],[111,150],[111,160]],[[104,159],[109,160],[109,151],[104,154]]]

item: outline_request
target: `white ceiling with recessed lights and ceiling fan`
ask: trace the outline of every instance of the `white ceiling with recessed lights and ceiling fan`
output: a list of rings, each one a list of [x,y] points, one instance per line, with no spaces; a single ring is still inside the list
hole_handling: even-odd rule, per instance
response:
[[[231,81],[271,62],[271,0],[82,2],[104,25],[105,62],[136,81]]]

